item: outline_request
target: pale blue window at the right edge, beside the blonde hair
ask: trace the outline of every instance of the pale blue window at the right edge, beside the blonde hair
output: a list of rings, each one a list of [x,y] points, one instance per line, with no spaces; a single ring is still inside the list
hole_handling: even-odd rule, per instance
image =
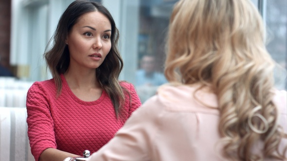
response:
[[[267,26],[267,49],[278,63],[274,70],[275,85],[287,89],[287,0],[261,0]]]

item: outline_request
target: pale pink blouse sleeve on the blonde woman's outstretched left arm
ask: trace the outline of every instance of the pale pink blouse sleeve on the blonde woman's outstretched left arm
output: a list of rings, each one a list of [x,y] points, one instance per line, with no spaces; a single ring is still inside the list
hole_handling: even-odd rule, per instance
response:
[[[149,161],[153,140],[158,133],[156,98],[136,110],[108,144],[93,153],[88,161]]]

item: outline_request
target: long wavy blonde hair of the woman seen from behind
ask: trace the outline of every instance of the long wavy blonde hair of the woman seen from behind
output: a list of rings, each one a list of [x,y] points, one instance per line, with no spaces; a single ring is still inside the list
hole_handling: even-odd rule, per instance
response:
[[[167,37],[168,81],[211,87],[218,97],[222,155],[229,160],[286,160],[287,138],[272,98],[273,66],[262,17],[250,0],[180,0]],[[264,149],[251,149],[263,142]]]

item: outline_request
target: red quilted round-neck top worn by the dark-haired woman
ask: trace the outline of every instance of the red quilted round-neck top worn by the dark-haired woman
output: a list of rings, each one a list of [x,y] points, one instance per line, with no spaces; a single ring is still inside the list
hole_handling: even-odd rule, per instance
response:
[[[63,87],[59,97],[56,97],[53,79],[35,82],[27,93],[28,137],[36,161],[49,147],[76,155],[82,155],[84,150],[97,151],[141,105],[133,85],[121,82],[130,92],[131,101],[126,94],[123,116],[117,119],[104,90],[99,99],[86,102],[72,93],[63,75],[61,79]]]

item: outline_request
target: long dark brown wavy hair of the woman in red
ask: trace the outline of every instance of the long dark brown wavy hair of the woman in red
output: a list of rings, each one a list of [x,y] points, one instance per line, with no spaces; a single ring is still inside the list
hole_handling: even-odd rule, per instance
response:
[[[47,45],[44,57],[54,78],[57,94],[59,95],[62,89],[60,74],[65,73],[70,64],[70,52],[65,40],[79,17],[94,11],[107,16],[111,24],[111,49],[103,64],[96,69],[96,76],[100,85],[112,100],[116,115],[118,116],[125,99],[124,92],[128,91],[118,81],[120,72],[123,69],[123,59],[117,48],[119,32],[107,8],[100,3],[90,0],[73,1],[61,16],[54,36]],[[48,50],[53,38],[54,45]]]

